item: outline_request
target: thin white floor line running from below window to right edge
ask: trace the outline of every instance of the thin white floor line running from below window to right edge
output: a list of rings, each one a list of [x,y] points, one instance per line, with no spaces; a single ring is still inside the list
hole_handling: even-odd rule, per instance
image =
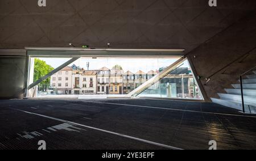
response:
[[[214,115],[226,115],[226,116],[238,116],[238,117],[252,117],[256,118],[256,116],[246,116],[246,115],[234,115],[229,113],[216,113],[216,112],[203,112],[203,111],[192,111],[187,109],[174,109],[174,108],[164,108],[164,107],[152,107],[152,106],[145,106],[145,105],[134,105],[134,104],[119,104],[119,103],[106,103],[106,102],[98,102],[98,101],[86,101],[88,103],[98,103],[98,104],[113,104],[113,105],[123,105],[123,106],[131,106],[131,107],[143,107],[143,108],[154,108],[154,109],[167,109],[171,111],[185,111],[185,112],[195,112],[195,113],[207,113],[207,114],[214,114]]]

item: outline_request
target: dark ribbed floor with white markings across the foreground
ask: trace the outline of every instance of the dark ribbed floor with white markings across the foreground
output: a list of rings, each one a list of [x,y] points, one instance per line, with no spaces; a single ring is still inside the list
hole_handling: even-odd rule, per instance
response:
[[[0,149],[38,149],[39,140],[47,149],[208,149],[210,140],[217,149],[256,149],[255,124],[255,115],[213,103],[0,100]]]

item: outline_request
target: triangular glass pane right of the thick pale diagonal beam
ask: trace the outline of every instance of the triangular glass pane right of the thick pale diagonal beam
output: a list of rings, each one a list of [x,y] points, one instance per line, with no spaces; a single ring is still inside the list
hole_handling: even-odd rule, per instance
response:
[[[159,72],[166,67],[160,67]],[[201,92],[195,81],[187,60],[183,65],[168,73],[151,87],[144,90],[139,97],[198,99],[202,100]]]

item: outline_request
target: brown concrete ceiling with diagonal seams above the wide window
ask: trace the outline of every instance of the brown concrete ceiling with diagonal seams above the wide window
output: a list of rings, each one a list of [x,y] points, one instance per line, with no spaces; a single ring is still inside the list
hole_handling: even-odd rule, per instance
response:
[[[191,51],[256,7],[255,0],[0,1],[0,48],[76,46]]]

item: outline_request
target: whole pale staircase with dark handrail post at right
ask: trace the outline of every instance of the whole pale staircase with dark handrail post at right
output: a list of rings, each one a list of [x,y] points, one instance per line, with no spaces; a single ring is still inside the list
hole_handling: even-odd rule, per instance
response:
[[[243,79],[243,100],[246,113],[256,113],[256,70]],[[241,84],[232,84],[234,88],[225,89],[226,94],[218,94],[220,99],[211,98],[214,103],[242,111]]]

